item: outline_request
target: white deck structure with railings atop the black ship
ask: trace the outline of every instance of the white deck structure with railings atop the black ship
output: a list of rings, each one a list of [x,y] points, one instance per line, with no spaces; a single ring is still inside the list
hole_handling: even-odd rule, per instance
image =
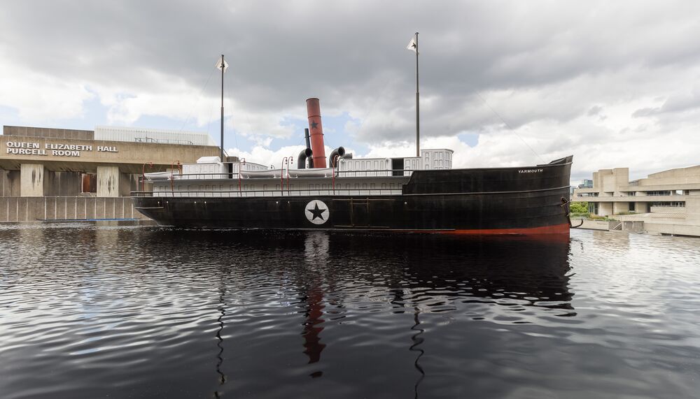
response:
[[[162,197],[283,197],[402,194],[413,171],[444,170],[452,150],[423,150],[422,157],[341,159],[337,168],[269,169],[251,162],[203,157],[169,173],[146,173]],[[400,165],[400,168],[394,166]]]

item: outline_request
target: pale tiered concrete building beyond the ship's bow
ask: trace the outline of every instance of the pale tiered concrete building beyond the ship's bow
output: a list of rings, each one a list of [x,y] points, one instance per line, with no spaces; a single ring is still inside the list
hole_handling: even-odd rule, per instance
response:
[[[700,236],[700,165],[633,181],[629,168],[601,169],[592,180],[571,198],[587,201],[591,214],[643,222],[648,233]]]

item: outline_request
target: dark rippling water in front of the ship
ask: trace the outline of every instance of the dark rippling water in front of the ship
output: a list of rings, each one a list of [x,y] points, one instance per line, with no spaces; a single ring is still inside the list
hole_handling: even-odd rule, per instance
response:
[[[696,398],[700,240],[0,225],[1,398]]]

